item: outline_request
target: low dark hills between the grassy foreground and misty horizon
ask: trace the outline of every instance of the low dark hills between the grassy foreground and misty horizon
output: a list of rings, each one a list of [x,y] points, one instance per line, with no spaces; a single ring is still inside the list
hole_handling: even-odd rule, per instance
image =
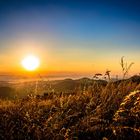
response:
[[[112,81],[111,83],[118,86],[120,83],[135,83],[138,85],[140,83],[140,76],[134,75],[128,79]],[[28,94],[34,94],[35,88],[37,86],[37,94],[43,94],[44,92],[77,92],[77,90],[88,89],[88,87],[93,88],[96,85],[100,87],[105,87],[107,85],[105,80],[93,80],[90,78],[81,78],[81,79],[64,79],[64,80],[53,80],[53,81],[32,81],[32,82],[23,82],[23,83],[8,83],[0,82],[0,97],[7,97],[15,95],[15,89],[19,97],[24,97]],[[37,85],[36,85],[37,84]],[[98,87],[98,86],[97,86]],[[138,87],[140,89],[140,87]]]

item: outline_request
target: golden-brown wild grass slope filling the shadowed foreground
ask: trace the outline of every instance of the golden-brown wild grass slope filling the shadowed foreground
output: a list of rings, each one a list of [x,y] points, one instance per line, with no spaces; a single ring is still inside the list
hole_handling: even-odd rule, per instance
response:
[[[137,140],[140,77],[67,94],[0,100],[0,139]]]

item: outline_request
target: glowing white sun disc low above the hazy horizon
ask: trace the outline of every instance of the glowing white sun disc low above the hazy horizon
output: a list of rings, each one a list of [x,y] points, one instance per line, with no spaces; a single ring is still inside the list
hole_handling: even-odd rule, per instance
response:
[[[39,58],[33,55],[26,56],[22,62],[22,66],[28,71],[34,71],[39,67]]]

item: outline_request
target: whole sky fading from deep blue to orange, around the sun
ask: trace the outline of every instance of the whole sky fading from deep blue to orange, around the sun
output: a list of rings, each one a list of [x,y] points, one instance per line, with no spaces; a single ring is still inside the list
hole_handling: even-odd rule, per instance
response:
[[[28,54],[39,71],[120,74],[120,58],[140,72],[139,0],[1,0],[0,72],[24,71]]]

